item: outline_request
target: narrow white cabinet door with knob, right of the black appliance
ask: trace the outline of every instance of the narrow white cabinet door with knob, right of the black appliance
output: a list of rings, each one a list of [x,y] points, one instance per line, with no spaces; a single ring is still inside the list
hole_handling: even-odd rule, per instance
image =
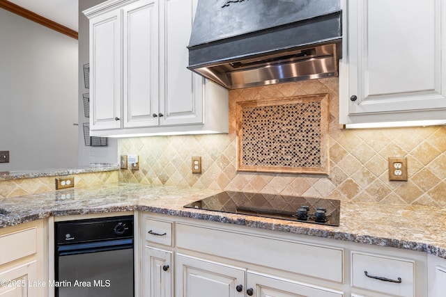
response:
[[[144,296],[172,296],[172,252],[157,248],[144,249]]]

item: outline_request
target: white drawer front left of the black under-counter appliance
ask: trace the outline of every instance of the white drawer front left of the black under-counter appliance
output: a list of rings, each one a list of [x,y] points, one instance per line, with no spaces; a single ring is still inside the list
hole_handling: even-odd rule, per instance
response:
[[[36,228],[0,236],[0,265],[37,252]]]

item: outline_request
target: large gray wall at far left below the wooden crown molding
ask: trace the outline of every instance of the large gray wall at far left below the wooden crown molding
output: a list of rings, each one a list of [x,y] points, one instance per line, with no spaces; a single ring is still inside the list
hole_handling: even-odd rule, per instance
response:
[[[0,172],[77,166],[77,67],[77,40],[0,8]]]

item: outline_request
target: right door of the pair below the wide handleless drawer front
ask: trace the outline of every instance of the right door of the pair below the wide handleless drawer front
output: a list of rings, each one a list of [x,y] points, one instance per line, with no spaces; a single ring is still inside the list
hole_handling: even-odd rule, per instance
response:
[[[249,291],[248,291],[249,290]],[[252,292],[252,295],[249,295]],[[255,297],[342,297],[339,291],[248,271],[247,294]]]

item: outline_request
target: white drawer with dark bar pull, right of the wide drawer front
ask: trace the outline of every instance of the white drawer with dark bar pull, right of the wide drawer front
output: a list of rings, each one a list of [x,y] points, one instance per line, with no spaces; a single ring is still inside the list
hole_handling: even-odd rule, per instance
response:
[[[352,285],[396,296],[414,296],[415,261],[353,252]]]

